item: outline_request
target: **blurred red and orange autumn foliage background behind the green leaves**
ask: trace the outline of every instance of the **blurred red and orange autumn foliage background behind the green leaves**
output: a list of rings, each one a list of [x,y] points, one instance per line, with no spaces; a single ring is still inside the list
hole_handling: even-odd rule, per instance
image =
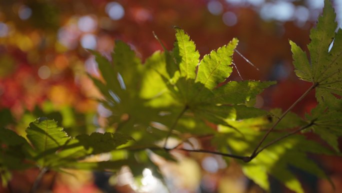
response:
[[[342,1],[332,3],[341,27]],[[229,80],[276,80],[278,84],[258,97],[257,104],[264,109],[285,109],[310,86],[293,73],[288,40],[307,50],[309,30],[322,7],[323,0],[0,1],[0,126],[9,125],[23,135],[30,121],[47,115],[59,120],[70,135],[104,128],[109,112],[95,100],[100,95],[87,74],[99,73],[86,49],[109,56],[114,41],[123,40],[144,60],[161,50],[152,32],[172,49],[172,26],[189,34],[201,57],[238,38],[237,50],[259,70],[235,54],[240,76],[235,68]],[[312,92],[294,111],[302,116],[315,104]],[[237,165],[227,166],[221,157],[176,156],[181,160],[177,164],[156,160],[172,192],[263,192]],[[337,192],[341,191],[342,160],[315,159],[335,182]],[[41,189],[167,192],[148,169],[135,181],[125,168],[116,176],[70,172],[78,177],[46,174]],[[333,192],[326,180],[300,171],[297,174],[307,192]],[[27,192],[36,175],[34,169],[14,173],[12,192]],[[290,192],[270,180],[271,192]],[[0,187],[0,191],[10,190]]]

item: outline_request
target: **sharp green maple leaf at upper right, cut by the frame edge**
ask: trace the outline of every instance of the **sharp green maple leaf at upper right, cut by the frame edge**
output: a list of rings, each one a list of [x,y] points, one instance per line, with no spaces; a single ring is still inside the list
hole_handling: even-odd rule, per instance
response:
[[[335,33],[335,18],[330,1],[325,0],[323,14],[318,18],[317,26],[310,31],[310,60],[294,42],[290,41],[290,45],[295,73],[300,79],[316,85],[317,101],[330,107],[339,104],[342,108],[341,101],[334,96],[342,95],[342,31],[338,29]]]

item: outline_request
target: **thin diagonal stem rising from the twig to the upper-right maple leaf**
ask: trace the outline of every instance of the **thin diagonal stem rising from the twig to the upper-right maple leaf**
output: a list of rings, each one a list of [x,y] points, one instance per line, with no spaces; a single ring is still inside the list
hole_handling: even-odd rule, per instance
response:
[[[269,133],[275,128],[275,126],[282,120],[282,118],[284,118],[285,115],[290,110],[292,110],[295,105],[297,105],[311,90],[313,90],[317,86],[318,86],[318,83],[313,83],[310,88],[308,88],[290,107],[288,107],[288,109],[285,112],[282,113],[282,115],[279,117],[279,119],[277,121],[275,121],[275,123],[267,130],[267,132],[263,135],[263,137],[261,138],[259,143],[256,145],[253,153],[250,155],[250,159],[253,159],[256,156],[258,149],[261,146],[261,144],[263,143],[263,141],[266,139],[266,137],[269,135]]]

